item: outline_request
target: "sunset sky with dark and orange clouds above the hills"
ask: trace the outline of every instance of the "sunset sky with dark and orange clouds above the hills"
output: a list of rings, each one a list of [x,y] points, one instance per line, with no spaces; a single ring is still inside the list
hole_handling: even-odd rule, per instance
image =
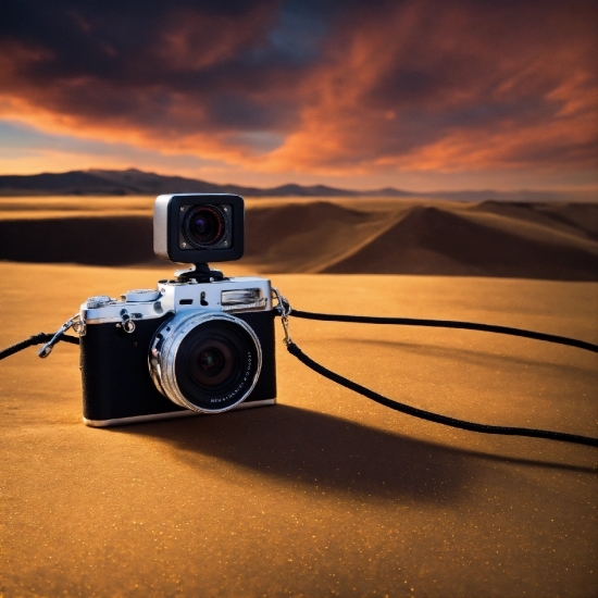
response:
[[[596,188],[597,7],[4,0],[0,174]]]

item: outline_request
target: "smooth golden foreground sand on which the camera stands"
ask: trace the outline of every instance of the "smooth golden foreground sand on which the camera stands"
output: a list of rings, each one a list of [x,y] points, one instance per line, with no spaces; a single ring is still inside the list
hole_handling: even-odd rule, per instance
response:
[[[346,210],[331,205],[317,209]],[[550,238],[585,251],[596,242],[591,231],[580,233],[589,228],[585,216],[578,227],[571,214],[544,227],[548,209],[522,210],[531,245]],[[495,232],[510,217],[461,211],[468,225],[491,222]],[[362,240],[382,226],[371,217],[356,233]],[[57,329],[86,297],[153,287],[171,272],[167,263],[0,263],[2,345]],[[272,281],[297,309],[598,341],[591,282],[310,273]],[[594,353],[468,331],[298,319],[290,326],[312,358],[409,404],[597,436]],[[60,344],[47,360],[30,348],[0,362],[0,595],[598,594],[596,449],[399,414],[307,370],[284,349],[279,325],[276,333],[276,406],[112,429],[80,421],[77,347]]]

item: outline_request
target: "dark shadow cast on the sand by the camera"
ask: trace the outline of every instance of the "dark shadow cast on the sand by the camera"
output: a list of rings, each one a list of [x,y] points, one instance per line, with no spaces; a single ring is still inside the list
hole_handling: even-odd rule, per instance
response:
[[[194,466],[201,466],[197,460],[201,453],[289,486],[383,500],[456,502],[475,488],[489,468],[494,469],[491,461],[518,462],[285,404],[123,426],[113,433],[164,440]]]

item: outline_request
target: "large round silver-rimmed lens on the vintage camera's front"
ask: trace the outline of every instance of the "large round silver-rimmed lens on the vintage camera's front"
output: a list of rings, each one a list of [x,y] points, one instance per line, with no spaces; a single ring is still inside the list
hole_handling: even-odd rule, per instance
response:
[[[249,396],[261,370],[256,333],[226,313],[178,313],[157,331],[151,347],[158,389],[192,411],[235,407]]]

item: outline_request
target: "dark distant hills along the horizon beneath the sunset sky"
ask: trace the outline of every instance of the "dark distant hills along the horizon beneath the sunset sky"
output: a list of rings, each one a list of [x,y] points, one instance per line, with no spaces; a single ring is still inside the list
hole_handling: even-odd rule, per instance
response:
[[[414,192],[385,187],[384,189],[354,190],[296,184],[279,187],[244,187],[219,185],[183,176],[166,176],[136,169],[126,171],[72,171],[33,175],[0,175],[0,196],[127,196],[160,194],[236,194],[242,197],[422,197],[454,201],[597,201],[595,191],[495,191],[462,190]]]

